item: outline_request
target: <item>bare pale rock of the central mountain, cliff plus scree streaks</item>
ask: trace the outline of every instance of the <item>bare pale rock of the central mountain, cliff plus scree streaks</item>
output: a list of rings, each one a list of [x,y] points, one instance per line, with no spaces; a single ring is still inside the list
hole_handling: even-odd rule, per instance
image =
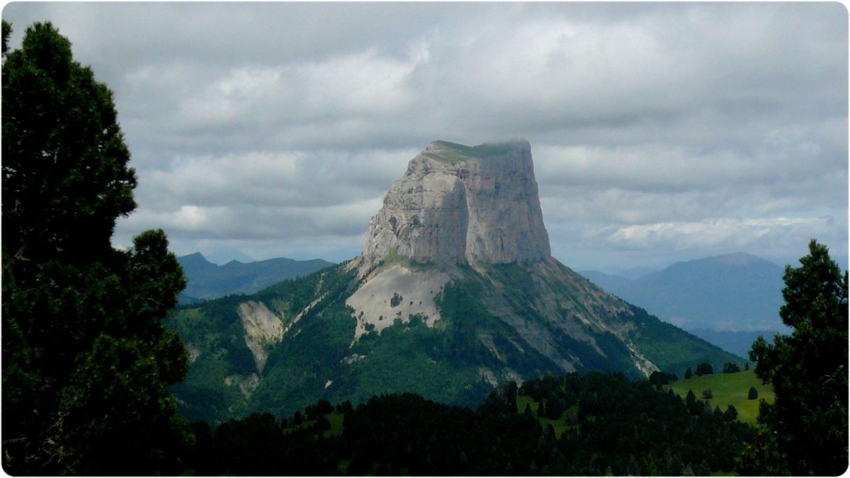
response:
[[[621,334],[627,327],[609,323],[609,316],[626,314],[628,307],[558,263],[550,251],[528,141],[477,146],[433,141],[390,187],[366,231],[363,253],[352,264],[364,279],[346,300],[357,317],[354,339],[367,330],[380,333],[396,317],[405,323],[420,315],[433,327],[441,318],[436,302],[445,284],[474,278],[491,314],[562,372],[574,372],[581,360],[558,345],[558,334],[587,342],[604,355],[584,327]],[[527,321],[527,311],[504,299],[513,284],[493,266],[510,264],[522,264],[529,274],[532,282],[524,293],[536,300],[528,306],[546,320]],[[572,300],[564,304],[564,296]],[[394,303],[392,297],[402,299]],[[485,336],[482,340],[498,354]],[[642,373],[658,369],[634,347],[628,354]],[[484,375],[497,381],[492,378],[516,374],[488,369]]]

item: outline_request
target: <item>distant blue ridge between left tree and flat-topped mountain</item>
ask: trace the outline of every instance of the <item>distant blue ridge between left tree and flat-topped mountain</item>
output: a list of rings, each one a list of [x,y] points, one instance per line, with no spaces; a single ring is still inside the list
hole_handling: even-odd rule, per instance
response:
[[[231,260],[225,265],[215,265],[201,253],[177,258],[188,282],[180,295],[181,304],[191,304],[202,299],[215,299],[231,293],[255,293],[264,287],[306,276],[324,269],[331,262],[322,259],[268,259],[247,264]]]

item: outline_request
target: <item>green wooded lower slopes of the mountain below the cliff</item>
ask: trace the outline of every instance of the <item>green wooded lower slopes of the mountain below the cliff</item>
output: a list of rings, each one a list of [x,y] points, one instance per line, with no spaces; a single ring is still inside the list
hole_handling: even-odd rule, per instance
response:
[[[346,265],[251,296],[179,307],[167,327],[184,339],[192,361],[186,379],[172,392],[187,418],[220,423],[253,412],[288,414],[320,398],[356,404],[372,395],[402,392],[473,406],[493,382],[562,373],[563,363],[580,373],[643,378],[626,344],[609,330],[587,325],[582,316],[597,317],[615,330],[628,327],[628,339],[643,356],[679,377],[685,367],[704,361],[716,369],[726,362],[743,364],[740,357],[637,307],[631,314],[611,315],[605,298],[600,303],[587,299],[594,292],[589,282],[579,276],[572,281],[575,274],[558,267],[563,270],[543,274],[525,265],[495,265],[486,277],[459,267],[463,277],[437,296],[440,320],[434,327],[422,316],[409,316],[407,322],[399,316],[394,326],[380,333],[367,328],[356,341],[354,310],[345,300],[360,279]],[[498,314],[484,305],[488,301],[501,304]],[[557,307],[550,310],[537,307],[553,302]],[[249,329],[257,333],[255,324],[265,319],[250,310],[265,310],[286,330],[279,337],[269,333],[257,356],[246,337]],[[530,340],[537,339],[558,353],[536,348]]]

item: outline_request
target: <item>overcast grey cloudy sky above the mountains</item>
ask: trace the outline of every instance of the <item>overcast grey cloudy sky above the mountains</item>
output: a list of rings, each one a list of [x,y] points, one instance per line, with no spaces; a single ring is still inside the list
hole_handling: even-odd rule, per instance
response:
[[[575,270],[847,267],[840,3],[11,3],[114,92],[139,208],[217,259],[350,259],[433,139],[531,142]]]

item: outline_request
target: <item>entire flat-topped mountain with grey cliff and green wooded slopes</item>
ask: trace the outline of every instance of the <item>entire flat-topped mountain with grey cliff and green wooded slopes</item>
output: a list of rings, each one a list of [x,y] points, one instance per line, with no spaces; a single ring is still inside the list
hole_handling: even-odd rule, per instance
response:
[[[191,419],[292,413],[410,391],[456,404],[547,373],[683,374],[739,357],[553,259],[530,145],[435,141],[371,219],[360,256],[175,311]]]

